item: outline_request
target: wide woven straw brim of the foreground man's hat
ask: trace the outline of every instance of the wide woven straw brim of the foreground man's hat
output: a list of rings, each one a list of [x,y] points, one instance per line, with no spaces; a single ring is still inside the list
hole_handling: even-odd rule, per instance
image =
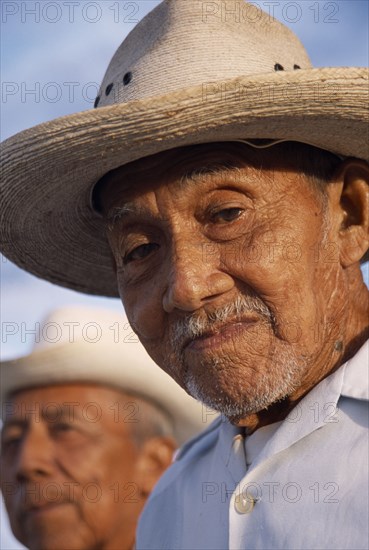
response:
[[[276,72],[101,107],[2,146],[3,253],[48,281],[118,296],[104,223],[91,208],[108,171],[175,147],[286,139],[369,161],[368,70]]]

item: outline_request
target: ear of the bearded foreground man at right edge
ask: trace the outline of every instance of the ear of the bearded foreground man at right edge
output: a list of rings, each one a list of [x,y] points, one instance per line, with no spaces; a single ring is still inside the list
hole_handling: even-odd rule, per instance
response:
[[[347,159],[340,165],[334,181],[340,184],[337,188],[340,196],[334,205],[340,261],[343,267],[349,267],[359,262],[369,247],[369,165],[362,160]]]

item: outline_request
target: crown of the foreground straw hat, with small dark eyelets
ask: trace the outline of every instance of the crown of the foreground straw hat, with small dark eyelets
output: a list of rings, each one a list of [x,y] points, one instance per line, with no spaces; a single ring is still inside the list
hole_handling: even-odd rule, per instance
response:
[[[299,39],[254,4],[164,0],[119,46],[95,106],[299,68],[311,68]]]

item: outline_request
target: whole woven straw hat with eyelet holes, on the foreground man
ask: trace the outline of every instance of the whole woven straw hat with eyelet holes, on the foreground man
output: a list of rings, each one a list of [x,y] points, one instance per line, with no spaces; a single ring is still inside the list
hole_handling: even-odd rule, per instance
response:
[[[368,105],[367,69],[313,68],[297,37],[255,5],[165,0],[118,48],[97,108],[4,142],[2,251],[51,282],[117,296],[91,206],[104,174],[238,139],[299,141],[368,161]]]

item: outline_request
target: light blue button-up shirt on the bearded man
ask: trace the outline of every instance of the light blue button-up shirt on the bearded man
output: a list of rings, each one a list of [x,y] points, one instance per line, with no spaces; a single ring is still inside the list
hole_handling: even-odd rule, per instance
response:
[[[315,386],[251,463],[222,418],[186,444],[144,509],[137,549],[368,549],[368,352]]]

